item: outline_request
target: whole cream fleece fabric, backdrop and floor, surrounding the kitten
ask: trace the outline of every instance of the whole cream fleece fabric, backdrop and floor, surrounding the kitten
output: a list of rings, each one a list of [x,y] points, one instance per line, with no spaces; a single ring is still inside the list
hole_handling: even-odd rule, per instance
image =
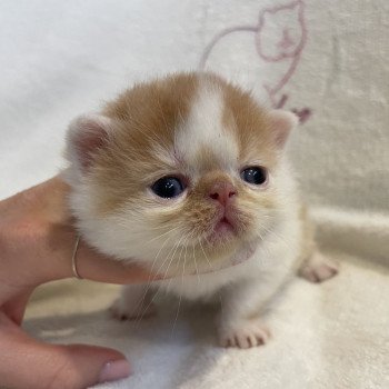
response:
[[[267,317],[272,340],[216,345],[213,308],[162,299],[110,319],[117,287],[62,281],[26,329],[114,347],[134,376],[101,388],[389,387],[389,2],[386,0],[4,0],[0,4],[0,198],[63,167],[67,123],[134,81],[208,69],[303,122],[289,146],[339,277],[296,279]]]

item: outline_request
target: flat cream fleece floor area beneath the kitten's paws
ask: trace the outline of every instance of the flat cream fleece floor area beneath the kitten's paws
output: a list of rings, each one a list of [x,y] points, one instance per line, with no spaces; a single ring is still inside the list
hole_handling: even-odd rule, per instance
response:
[[[57,282],[37,292],[26,329],[54,342],[123,351],[134,375],[99,388],[388,388],[389,271],[346,255],[337,279],[296,279],[266,321],[272,339],[250,350],[216,342],[215,310],[162,301],[158,316],[119,322],[107,307],[117,287]]]

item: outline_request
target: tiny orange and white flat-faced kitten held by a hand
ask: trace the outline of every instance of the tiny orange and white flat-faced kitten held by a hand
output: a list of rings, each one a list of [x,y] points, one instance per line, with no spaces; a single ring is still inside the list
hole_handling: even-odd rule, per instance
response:
[[[192,72],[140,83],[70,124],[66,179],[82,238],[167,277],[124,287],[116,316],[148,313],[158,288],[220,296],[220,345],[248,348],[268,340],[261,310],[291,275],[337,272],[316,252],[285,158],[297,122]]]

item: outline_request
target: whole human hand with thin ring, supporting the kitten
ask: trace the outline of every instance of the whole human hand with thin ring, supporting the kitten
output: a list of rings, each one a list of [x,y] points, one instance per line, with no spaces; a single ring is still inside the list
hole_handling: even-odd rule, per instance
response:
[[[72,277],[76,231],[67,213],[69,188],[53,178],[0,201],[0,387],[86,388],[130,375],[126,357],[86,345],[48,345],[20,327],[41,283]],[[131,283],[153,276],[106,258],[80,241],[79,273],[90,280]]]

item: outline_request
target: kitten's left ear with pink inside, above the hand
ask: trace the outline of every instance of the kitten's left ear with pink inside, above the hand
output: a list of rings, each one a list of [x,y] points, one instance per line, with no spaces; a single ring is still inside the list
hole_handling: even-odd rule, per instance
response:
[[[109,141],[112,120],[101,114],[82,114],[69,124],[67,158],[73,168],[84,173],[93,161],[96,151]]]

